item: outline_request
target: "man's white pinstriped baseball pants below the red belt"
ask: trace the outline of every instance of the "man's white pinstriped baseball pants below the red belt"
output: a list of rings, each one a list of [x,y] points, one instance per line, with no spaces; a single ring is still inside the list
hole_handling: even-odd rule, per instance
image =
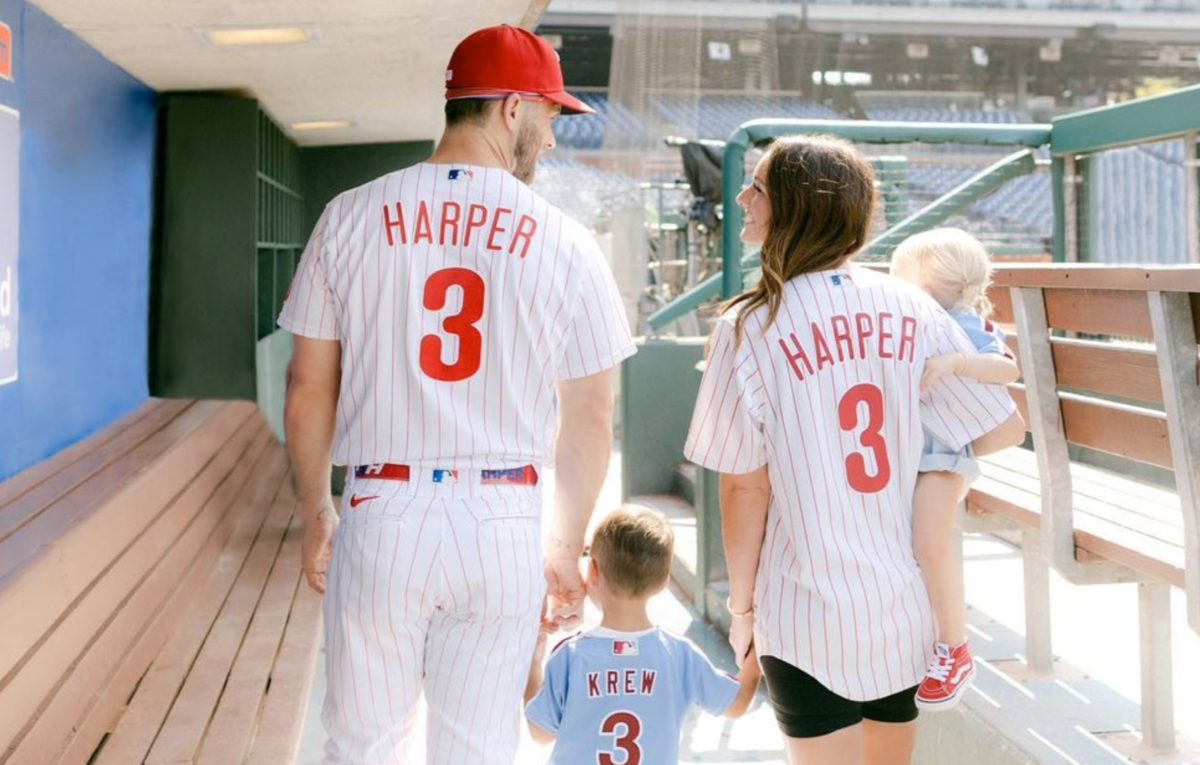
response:
[[[326,765],[512,763],[545,595],[541,494],[470,477],[347,486],[324,601]]]

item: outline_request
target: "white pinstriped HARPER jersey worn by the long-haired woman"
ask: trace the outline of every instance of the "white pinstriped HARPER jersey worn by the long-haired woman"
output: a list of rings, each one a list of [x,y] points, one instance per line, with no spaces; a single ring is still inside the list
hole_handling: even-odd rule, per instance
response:
[[[839,284],[834,275],[850,278]],[[860,314],[872,333],[857,331]],[[684,454],[722,472],[768,468],[772,496],[755,583],[758,652],[853,700],[910,688],[924,675],[934,639],[912,555],[922,423],[962,445],[1000,424],[1013,403],[1002,387],[960,378],[919,396],[926,357],[973,347],[928,295],[886,275],[848,267],[797,277],[775,324],[763,333],[766,312],[750,315],[737,349],[734,318],[714,329]],[[906,319],[916,329],[911,353],[900,357]],[[886,327],[893,337],[881,344]],[[797,343],[806,360],[794,362],[799,373],[788,360]],[[847,456],[859,453],[868,475],[883,468],[860,444],[868,408],[858,408],[850,430],[838,414],[860,384],[882,393],[880,435],[890,472],[871,492],[851,486],[846,466]]]

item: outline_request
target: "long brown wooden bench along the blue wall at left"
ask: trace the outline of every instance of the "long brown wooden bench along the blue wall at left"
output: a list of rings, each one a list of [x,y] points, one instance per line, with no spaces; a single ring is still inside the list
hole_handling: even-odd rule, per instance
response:
[[[0,483],[0,764],[288,765],[320,601],[283,447],[151,399]]]

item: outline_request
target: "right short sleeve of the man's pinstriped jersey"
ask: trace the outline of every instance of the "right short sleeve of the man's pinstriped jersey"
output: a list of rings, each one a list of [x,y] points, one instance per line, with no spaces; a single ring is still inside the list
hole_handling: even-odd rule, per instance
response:
[[[604,253],[590,234],[581,230],[580,236],[578,261],[574,266],[580,271],[580,291],[576,305],[569,307],[574,308],[574,317],[558,363],[560,380],[611,369],[636,350],[625,306]]]

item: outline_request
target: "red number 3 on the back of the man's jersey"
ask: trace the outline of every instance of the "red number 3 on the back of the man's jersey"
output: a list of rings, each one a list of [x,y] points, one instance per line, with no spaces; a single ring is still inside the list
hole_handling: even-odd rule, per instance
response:
[[[454,363],[442,361],[442,337],[426,335],[421,338],[421,372],[434,380],[458,382],[479,372],[484,354],[484,336],[475,324],[484,318],[484,279],[469,269],[442,269],[430,275],[425,282],[424,306],[426,311],[442,311],[451,287],[462,290],[462,308],[446,317],[442,329],[458,338],[458,359]]]

